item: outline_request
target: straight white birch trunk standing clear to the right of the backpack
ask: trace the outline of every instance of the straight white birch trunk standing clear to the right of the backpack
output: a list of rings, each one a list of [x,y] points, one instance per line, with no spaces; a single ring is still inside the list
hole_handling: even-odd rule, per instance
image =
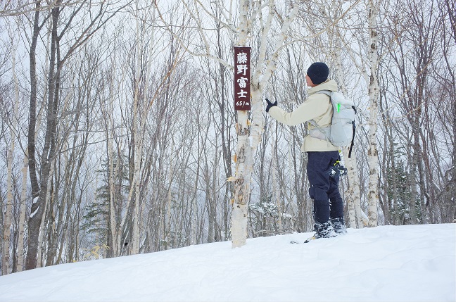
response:
[[[379,154],[377,151],[376,132],[377,132],[377,101],[379,99],[379,81],[377,79],[377,69],[379,66],[379,55],[377,54],[378,37],[376,18],[379,13],[380,0],[369,0],[368,25],[370,34],[370,81],[369,81],[369,227],[376,227],[378,224],[377,203],[379,200]]]

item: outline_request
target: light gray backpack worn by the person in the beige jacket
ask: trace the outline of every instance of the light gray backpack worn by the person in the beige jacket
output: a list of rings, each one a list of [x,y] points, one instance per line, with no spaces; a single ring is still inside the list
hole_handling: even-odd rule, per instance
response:
[[[350,145],[350,153],[353,148],[353,139],[355,137],[355,103],[346,99],[340,92],[331,92],[329,90],[320,90],[320,94],[327,94],[331,98],[333,106],[333,116],[331,125],[328,127],[319,127],[315,120],[310,120],[315,128],[310,130],[310,136],[317,139],[326,139],[334,146]]]

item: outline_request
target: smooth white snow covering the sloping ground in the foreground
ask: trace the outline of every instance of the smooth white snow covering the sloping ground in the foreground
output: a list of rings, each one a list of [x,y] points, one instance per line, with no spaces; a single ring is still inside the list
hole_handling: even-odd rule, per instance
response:
[[[456,225],[202,244],[0,277],[0,301],[455,301]]]

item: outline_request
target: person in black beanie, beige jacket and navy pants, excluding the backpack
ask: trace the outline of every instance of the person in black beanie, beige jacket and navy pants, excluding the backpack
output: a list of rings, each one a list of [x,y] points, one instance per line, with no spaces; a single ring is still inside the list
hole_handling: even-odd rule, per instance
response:
[[[313,120],[309,123],[310,134],[304,137],[302,152],[308,153],[307,174],[310,182],[309,194],[314,203],[315,239],[334,237],[346,233],[343,221],[343,200],[338,190],[339,173],[331,174],[339,161],[338,147],[331,144],[319,129],[331,125],[333,106],[330,97],[322,90],[336,92],[336,81],[328,80],[329,68],[325,63],[310,65],[305,80],[310,87],[308,99],[293,112],[288,113],[268,99],[266,112],[275,120],[289,126]],[[317,126],[317,127],[315,127]]]

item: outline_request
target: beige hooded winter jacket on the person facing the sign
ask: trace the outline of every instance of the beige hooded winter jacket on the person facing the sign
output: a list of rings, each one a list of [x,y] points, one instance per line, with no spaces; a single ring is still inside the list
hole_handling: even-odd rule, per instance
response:
[[[299,125],[309,120],[315,120],[319,127],[328,127],[331,124],[333,108],[327,94],[317,94],[320,90],[337,91],[337,84],[334,80],[327,80],[322,84],[309,89],[309,97],[300,104],[293,112],[286,112],[278,106],[270,108],[269,114],[275,120],[289,126]],[[315,128],[309,123],[309,131]],[[302,152],[308,151],[336,151],[337,146],[331,144],[327,139],[317,139],[306,135],[301,146]]]

